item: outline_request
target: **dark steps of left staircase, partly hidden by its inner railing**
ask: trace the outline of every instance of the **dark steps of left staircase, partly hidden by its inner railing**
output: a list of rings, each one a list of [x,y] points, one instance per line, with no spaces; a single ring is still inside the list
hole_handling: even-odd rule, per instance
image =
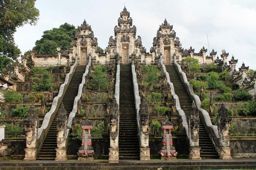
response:
[[[76,67],[75,73],[73,74],[72,79],[70,80],[70,84],[67,88],[66,93],[63,96],[62,102],[64,108],[69,114],[73,110],[73,104],[75,97],[78,93],[79,84],[82,82],[82,76],[85,72],[86,65],[78,65]],[[41,150],[38,153],[38,160],[54,160],[56,158],[57,148],[57,126],[56,126],[56,116],[49,128],[46,138],[44,139],[44,143],[41,147]]]

